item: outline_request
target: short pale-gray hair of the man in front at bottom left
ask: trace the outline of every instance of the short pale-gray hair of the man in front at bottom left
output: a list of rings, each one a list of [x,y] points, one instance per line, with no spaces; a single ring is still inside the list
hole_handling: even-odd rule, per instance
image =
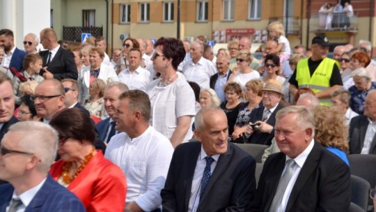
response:
[[[47,173],[56,158],[58,132],[40,121],[20,121],[10,126],[7,134],[10,132],[24,135],[18,145],[24,151],[38,155],[40,164],[37,168],[40,172]]]

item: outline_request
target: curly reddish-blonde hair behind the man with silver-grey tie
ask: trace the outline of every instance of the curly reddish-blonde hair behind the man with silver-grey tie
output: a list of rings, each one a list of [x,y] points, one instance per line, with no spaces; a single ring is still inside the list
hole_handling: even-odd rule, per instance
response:
[[[348,151],[348,128],[345,124],[345,116],[335,107],[319,105],[313,111],[315,117],[315,140],[322,146],[332,146],[342,151]]]

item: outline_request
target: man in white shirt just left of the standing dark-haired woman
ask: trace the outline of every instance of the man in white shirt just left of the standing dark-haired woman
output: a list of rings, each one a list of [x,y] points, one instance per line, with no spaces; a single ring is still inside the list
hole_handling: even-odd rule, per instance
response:
[[[127,84],[132,89],[146,91],[146,86],[150,82],[150,72],[145,68],[141,68],[141,52],[137,49],[130,50],[128,56],[130,62],[129,68],[122,70],[118,77],[119,81]]]

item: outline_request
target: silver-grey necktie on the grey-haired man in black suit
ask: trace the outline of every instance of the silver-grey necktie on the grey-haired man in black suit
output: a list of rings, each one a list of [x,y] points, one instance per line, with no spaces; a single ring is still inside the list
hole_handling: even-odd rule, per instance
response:
[[[295,160],[288,160],[286,162],[286,171],[283,173],[283,176],[279,180],[277,189],[276,189],[276,195],[274,195],[272,206],[270,206],[269,211],[277,211],[279,205],[282,202],[283,195],[285,194],[285,190],[288,186],[288,183],[290,182],[290,179],[292,177],[292,174],[294,174],[294,165]]]

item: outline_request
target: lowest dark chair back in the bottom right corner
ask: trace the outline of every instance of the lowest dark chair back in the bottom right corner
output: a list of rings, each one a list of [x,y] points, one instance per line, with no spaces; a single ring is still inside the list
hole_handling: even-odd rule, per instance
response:
[[[351,202],[367,211],[370,183],[359,176],[351,176]]]

